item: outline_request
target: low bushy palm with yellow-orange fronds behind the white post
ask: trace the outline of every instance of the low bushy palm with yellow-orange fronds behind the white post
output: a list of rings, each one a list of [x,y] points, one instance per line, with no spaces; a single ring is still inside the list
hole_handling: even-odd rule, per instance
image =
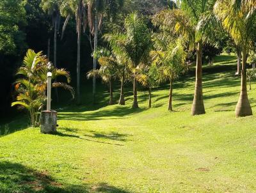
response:
[[[52,72],[53,79],[64,76],[68,83],[71,81],[69,72],[65,69],[55,68],[47,56],[42,55],[42,52],[35,53],[30,49],[24,57],[23,65],[17,70],[17,75],[20,78],[15,81],[15,90],[18,95],[17,101],[13,102],[12,106],[19,105],[28,109],[33,127],[38,125],[38,111],[42,109],[46,100],[47,72]],[[52,88],[58,87],[70,91],[74,98],[74,90],[67,83],[52,82]]]

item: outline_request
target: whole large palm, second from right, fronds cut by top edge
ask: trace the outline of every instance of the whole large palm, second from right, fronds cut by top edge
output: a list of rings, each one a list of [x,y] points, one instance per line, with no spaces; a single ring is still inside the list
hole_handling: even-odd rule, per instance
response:
[[[205,19],[205,15],[212,13],[216,0],[183,0],[181,1],[181,10],[164,10],[154,18],[155,24],[168,27],[172,32],[188,38],[192,47],[196,48],[196,82],[195,95],[191,109],[192,115],[205,114],[203,91],[202,91],[202,46],[207,40],[205,28],[204,31],[196,29],[200,27],[200,22]],[[200,33],[198,33],[200,31]]]

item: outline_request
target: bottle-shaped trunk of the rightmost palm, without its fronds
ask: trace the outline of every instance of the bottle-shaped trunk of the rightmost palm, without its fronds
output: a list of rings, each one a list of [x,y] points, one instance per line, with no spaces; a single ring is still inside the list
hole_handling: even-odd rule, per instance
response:
[[[236,116],[250,116],[252,115],[252,108],[248,100],[247,88],[246,88],[246,60],[247,50],[243,47],[243,62],[241,69],[241,92],[240,97],[236,105]]]

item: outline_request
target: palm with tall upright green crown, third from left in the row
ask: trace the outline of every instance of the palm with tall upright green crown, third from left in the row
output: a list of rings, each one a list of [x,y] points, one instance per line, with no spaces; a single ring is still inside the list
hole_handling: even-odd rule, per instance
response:
[[[151,47],[150,31],[147,24],[138,13],[131,13],[125,18],[124,33],[105,35],[112,47],[120,47],[129,59],[132,68],[137,68],[147,56]],[[136,70],[133,70],[133,103],[132,108],[138,108],[138,91]]]

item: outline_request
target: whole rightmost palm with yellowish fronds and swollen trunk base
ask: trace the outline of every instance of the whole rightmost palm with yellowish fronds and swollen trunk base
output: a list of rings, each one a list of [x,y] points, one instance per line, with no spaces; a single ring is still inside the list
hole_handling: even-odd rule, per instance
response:
[[[237,6],[237,2],[239,6]],[[230,33],[236,45],[243,52],[241,69],[241,93],[236,105],[236,116],[252,115],[252,107],[248,100],[246,88],[246,61],[251,47],[252,34],[255,32],[255,2],[254,0],[228,1],[218,0],[214,6],[216,17],[221,20],[224,29]],[[253,8],[254,5],[254,8]]]

